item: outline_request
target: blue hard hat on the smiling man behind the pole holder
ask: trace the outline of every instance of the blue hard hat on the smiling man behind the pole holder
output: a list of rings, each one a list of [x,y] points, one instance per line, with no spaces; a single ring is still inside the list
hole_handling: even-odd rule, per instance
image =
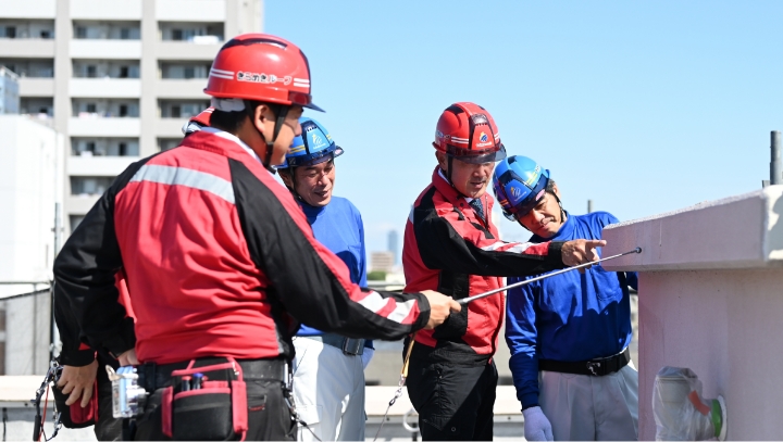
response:
[[[286,162],[277,168],[312,166],[343,154],[343,148],[335,144],[323,125],[312,118],[301,117],[302,134],[294,138]]]

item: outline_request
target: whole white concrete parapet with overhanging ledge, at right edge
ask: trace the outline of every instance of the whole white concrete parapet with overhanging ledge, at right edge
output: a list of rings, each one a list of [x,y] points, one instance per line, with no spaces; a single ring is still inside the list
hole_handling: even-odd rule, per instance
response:
[[[783,186],[604,230],[607,270],[639,271],[639,439],[655,439],[652,384],[688,367],[728,405],[729,440],[783,439]]]

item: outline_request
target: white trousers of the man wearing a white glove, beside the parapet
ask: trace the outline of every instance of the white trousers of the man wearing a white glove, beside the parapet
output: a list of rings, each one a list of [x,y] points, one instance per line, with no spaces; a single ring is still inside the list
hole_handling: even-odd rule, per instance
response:
[[[638,371],[607,376],[538,372],[538,403],[556,441],[638,439]]]

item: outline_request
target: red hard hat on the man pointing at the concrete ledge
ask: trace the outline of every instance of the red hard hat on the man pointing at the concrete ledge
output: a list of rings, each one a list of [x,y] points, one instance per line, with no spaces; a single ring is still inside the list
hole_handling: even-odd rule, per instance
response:
[[[495,119],[484,108],[469,102],[453,103],[440,114],[433,146],[467,163],[506,157]]]

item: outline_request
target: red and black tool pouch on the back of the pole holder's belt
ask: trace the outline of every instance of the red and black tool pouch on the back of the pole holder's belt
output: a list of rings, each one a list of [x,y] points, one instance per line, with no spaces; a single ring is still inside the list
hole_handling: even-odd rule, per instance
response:
[[[224,364],[172,372],[172,386],[163,390],[161,429],[175,441],[244,440],[248,429],[247,389],[241,367]],[[183,390],[183,380],[202,374],[198,390]]]

